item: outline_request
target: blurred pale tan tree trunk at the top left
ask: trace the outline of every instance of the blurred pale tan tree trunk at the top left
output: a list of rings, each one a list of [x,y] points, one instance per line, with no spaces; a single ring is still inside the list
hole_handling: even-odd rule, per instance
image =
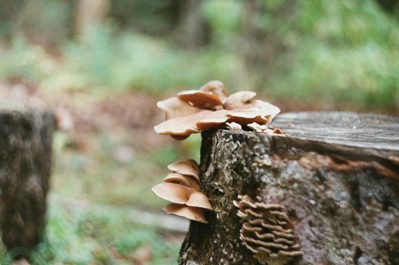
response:
[[[101,24],[107,18],[111,7],[110,0],[77,0],[75,32],[85,35],[91,27]]]

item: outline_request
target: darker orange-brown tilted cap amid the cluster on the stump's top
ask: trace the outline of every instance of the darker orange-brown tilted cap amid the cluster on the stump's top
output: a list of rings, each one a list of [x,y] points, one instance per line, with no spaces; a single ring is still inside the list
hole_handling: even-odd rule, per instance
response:
[[[201,109],[223,105],[222,100],[217,95],[199,90],[182,91],[177,94],[177,97],[181,100],[186,100],[194,107]]]

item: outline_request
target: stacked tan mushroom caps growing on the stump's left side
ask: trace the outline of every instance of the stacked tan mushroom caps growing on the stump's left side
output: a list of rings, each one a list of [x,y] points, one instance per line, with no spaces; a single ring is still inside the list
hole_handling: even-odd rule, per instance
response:
[[[165,183],[152,187],[157,196],[172,203],[163,210],[168,214],[208,223],[204,211],[213,211],[208,198],[199,191],[199,167],[195,160],[185,159],[168,165],[172,172],[163,179]]]

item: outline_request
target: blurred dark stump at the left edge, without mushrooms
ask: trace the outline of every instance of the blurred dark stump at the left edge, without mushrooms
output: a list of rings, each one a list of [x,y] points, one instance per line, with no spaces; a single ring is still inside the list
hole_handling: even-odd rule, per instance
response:
[[[39,242],[53,127],[49,110],[0,101],[0,231],[8,249]]]

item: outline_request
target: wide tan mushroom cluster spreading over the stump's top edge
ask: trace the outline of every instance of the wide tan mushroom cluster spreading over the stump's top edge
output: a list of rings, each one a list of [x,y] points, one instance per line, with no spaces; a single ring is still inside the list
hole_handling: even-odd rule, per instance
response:
[[[184,140],[192,133],[226,128],[227,123],[247,126],[269,124],[280,109],[254,99],[255,92],[241,91],[227,95],[221,81],[210,81],[199,90],[182,91],[176,97],[159,101],[165,121],[155,126],[159,134]]]

